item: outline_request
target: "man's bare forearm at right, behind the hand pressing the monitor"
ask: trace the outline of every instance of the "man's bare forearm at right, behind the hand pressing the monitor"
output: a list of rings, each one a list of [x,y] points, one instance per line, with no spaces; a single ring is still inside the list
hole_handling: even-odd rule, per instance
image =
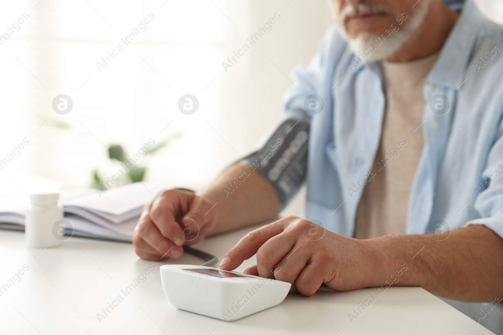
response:
[[[375,276],[381,286],[405,264],[393,285],[421,286],[446,298],[483,302],[503,294],[503,239],[473,225],[440,235],[389,236],[366,240],[376,250]]]

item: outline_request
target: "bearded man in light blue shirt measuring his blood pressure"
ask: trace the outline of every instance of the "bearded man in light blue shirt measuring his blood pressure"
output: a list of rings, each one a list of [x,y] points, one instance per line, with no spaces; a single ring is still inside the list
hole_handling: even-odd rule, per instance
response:
[[[331,5],[336,25],[296,70],[287,119],[210,188],[160,192],[137,254],[177,258],[274,218],[305,182],[309,220],[250,232],[222,269],[257,254],[246,273],[308,296],[397,276],[456,300],[503,296],[503,30],[469,0]]]

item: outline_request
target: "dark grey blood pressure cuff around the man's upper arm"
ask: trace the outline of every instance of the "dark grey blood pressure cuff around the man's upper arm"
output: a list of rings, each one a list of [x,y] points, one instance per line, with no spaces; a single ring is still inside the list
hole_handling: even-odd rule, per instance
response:
[[[291,110],[265,145],[241,160],[267,180],[278,193],[282,208],[306,177],[309,121],[304,110]]]

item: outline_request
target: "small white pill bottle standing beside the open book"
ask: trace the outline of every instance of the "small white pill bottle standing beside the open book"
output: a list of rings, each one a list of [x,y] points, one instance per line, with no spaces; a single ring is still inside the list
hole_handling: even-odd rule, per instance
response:
[[[29,247],[59,246],[63,230],[63,207],[59,204],[59,192],[46,191],[29,194],[30,203],[25,216],[25,238]]]

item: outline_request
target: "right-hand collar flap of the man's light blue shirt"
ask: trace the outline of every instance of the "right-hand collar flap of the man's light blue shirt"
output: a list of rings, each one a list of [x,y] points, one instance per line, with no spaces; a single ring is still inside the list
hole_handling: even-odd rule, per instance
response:
[[[427,82],[459,87],[466,79],[467,65],[477,36],[487,24],[488,20],[480,13],[473,0],[466,1]]]

